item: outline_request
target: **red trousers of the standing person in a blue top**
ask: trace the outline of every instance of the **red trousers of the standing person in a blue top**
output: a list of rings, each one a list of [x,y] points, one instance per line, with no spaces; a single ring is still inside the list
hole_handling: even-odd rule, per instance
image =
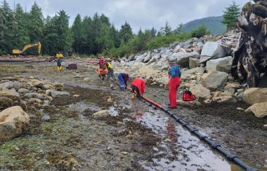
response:
[[[178,76],[171,78],[169,81],[169,104],[171,107],[176,107],[176,96],[177,96],[177,89],[180,86],[180,78]]]

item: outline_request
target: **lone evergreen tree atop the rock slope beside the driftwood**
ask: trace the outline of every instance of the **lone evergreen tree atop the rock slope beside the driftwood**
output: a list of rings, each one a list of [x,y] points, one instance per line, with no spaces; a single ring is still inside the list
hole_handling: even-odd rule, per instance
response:
[[[240,8],[235,4],[235,1],[226,7],[226,11],[223,11],[222,23],[226,25],[227,29],[233,29],[236,26],[238,16],[240,15]]]

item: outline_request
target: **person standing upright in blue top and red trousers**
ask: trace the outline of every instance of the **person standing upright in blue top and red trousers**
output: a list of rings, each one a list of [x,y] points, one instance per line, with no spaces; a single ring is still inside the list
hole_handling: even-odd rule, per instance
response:
[[[181,77],[181,71],[176,62],[176,58],[169,60],[169,80],[167,81],[167,85],[169,85],[169,108],[171,109],[176,109],[177,106],[177,89],[180,86]]]

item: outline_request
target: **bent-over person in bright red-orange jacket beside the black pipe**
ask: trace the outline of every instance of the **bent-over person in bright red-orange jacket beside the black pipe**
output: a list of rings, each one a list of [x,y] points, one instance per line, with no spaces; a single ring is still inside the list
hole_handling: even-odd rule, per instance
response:
[[[145,93],[145,81],[143,78],[135,78],[131,82],[131,93],[132,93],[132,100],[137,97],[143,97]]]

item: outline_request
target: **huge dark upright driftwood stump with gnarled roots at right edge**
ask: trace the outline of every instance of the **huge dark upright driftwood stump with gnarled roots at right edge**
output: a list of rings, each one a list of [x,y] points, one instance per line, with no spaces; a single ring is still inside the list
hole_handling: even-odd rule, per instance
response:
[[[260,74],[267,71],[267,0],[248,2],[241,11],[240,39],[233,53],[231,74],[249,88],[259,86]]]

